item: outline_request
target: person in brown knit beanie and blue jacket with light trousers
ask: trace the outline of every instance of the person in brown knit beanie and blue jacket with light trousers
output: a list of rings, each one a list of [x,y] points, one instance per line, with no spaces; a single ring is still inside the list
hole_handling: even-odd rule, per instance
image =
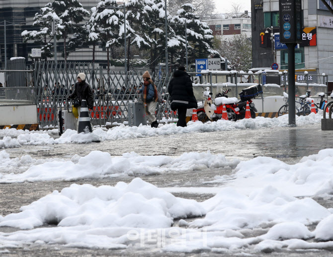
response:
[[[142,77],[144,83],[142,88],[140,88],[138,92],[142,94],[142,99],[145,106],[148,122],[151,124],[152,128],[157,128],[159,126],[159,123],[155,117],[155,110],[158,99],[157,88],[153,80],[151,80],[148,71],[145,71]]]

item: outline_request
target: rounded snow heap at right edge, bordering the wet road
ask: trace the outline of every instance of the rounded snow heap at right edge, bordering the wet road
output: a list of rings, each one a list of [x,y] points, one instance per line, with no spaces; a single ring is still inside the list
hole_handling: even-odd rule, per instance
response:
[[[288,188],[293,196],[333,194],[332,170],[333,149],[303,157],[293,165],[269,157],[256,157],[238,164],[234,174],[236,179],[231,184],[243,192],[271,185],[281,190]]]

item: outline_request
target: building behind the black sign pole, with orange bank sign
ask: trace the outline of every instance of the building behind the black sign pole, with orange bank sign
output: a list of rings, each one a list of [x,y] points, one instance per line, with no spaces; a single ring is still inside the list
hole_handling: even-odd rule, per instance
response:
[[[333,14],[322,0],[302,0],[302,9],[302,43],[295,49],[295,68],[315,75],[325,73],[333,81]],[[280,70],[287,69],[288,52],[276,37],[279,1],[251,0],[251,13],[252,66],[271,67],[276,62]]]

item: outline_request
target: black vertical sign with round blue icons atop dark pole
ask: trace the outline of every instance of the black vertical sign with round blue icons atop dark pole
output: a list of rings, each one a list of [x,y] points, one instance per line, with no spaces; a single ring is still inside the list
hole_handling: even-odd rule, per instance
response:
[[[301,0],[279,0],[280,42],[302,43]]]

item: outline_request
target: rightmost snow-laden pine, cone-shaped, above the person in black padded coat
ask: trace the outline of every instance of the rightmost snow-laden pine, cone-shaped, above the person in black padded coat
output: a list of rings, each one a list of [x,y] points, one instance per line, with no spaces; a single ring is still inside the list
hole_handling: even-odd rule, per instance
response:
[[[173,20],[186,22],[187,25],[187,41],[188,41],[188,62],[193,63],[195,59],[207,58],[209,56],[220,56],[213,50],[213,31],[205,22],[201,22],[199,17],[194,13],[193,5],[185,3],[177,12],[177,17]],[[178,37],[185,39],[184,27],[175,26],[175,31]],[[184,64],[185,61],[185,44],[182,44],[179,51],[179,61]]]

